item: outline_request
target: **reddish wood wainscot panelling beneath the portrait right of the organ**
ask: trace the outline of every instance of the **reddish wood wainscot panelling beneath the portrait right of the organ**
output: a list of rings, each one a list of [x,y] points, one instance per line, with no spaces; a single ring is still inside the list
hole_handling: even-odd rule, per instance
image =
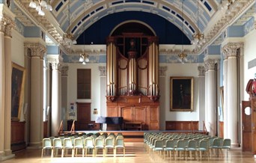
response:
[[[198,131],[198,121],[165,121],[165,130]]]

